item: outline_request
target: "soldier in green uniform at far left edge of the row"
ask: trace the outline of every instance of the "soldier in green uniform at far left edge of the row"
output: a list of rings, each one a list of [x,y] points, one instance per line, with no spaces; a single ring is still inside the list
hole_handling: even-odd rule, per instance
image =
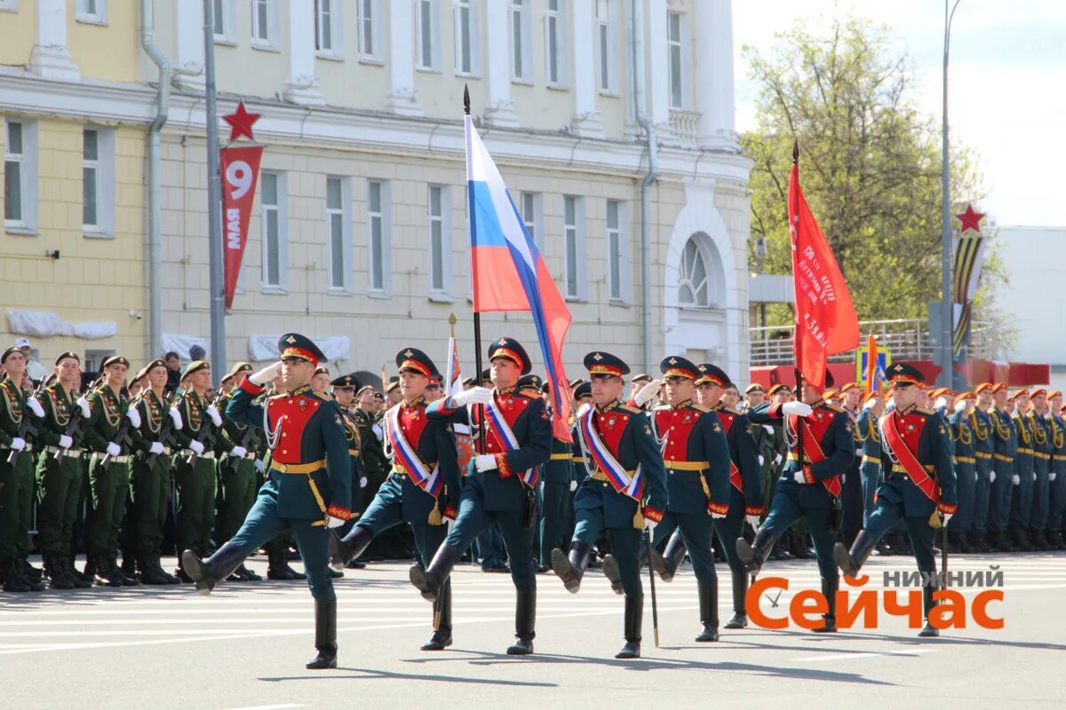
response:
[[[21,387],[26,354],[10,347],[0,357],[0,574],[5,592],[41,592],[45,589],[26,562],[29,552],[29,517],[33,503],[32,407]],[[43,412],[43,410],[42,410]]]

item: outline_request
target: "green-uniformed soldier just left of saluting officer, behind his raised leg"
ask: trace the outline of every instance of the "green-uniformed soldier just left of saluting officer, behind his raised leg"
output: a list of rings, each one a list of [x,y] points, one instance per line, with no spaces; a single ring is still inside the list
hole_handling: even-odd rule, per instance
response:
[[[252,373],[252,364],[239,362],[226,374],[223,381],[236,383]],[[225,387],[224,387],[225,389]],[[215,400],[215,409],[222,415],[222,430],[219,432],[219,516],[215,526],[215,542],[224,543],[241,529],[244,517],[256,501],[256,462],[259,460],[262,430],[249,427],[226,416],[226,407],[233,396],[233,387]],[[227,581],[258,582],[262,577],[244,566],[242,562]]]

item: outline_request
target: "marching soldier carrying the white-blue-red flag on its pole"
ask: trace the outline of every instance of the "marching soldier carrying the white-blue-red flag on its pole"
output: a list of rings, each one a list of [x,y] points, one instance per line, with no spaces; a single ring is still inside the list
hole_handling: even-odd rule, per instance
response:
[[[495,391],[474,387],[434,402],[431,419],[468,424],[478,429],[484,413],[485,440],[467,476],[455,527],[424,569],[410,568],[410,581],[434,601],[459,556],[488,526],[497,524],[511,558],[516,590],[515,635],[511,656],[533,653],[536,635],[536,572],[533,562],[533,524],[536,519],[537,466],[551,457],[551,423],[544,401],[516,391],[518,378],[530,371],[530,359],[515,340],[501,337],[488,348]],[[456,401],[458,400],[458,401]],[[467,404],[484,404],[473,415]]]

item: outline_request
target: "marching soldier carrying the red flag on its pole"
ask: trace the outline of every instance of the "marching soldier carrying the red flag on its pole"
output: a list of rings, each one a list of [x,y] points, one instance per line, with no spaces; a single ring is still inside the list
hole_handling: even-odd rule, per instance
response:
[[[833,386],[833,376],[825,374],[825,383]],[[762,404],[748,413],[756,424],[781,423],[789,455],[785,472],[777,481],[777,492],[770,515],[749,545],[737,540],[737,554],[753,575],[759,573],[774,541],[797,518],[805,517],[814,542],[814,557],[822,576],[822,595],[828,604],[823,626],[815,632],[837,630],[837,589],[840,573],[833,561],[833,538],[838,522],[840,475],[855,458],[855,439],[851,417],[840,408],[826,404],[822,392],[804,382],[803,401],[784,404]],[[800,427],[803,427],[803,451],[800,451]],[[801,456],[803,463],[801,465]]]

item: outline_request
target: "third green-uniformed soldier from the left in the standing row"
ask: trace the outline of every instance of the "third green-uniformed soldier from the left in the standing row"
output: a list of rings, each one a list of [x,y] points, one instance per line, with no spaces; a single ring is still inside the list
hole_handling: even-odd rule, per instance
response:
[[[92,416],[85,444],[95,451],[88,464],[90,515],[86,526],[88,561],[85,574],[107,587],[133,587],[135,579],[118,568],[118,536],[130,488],[133,432],[141,425],[136,408],[123,396],[129,361],[113,356],[103,361],[103,383],[88,395]]]

